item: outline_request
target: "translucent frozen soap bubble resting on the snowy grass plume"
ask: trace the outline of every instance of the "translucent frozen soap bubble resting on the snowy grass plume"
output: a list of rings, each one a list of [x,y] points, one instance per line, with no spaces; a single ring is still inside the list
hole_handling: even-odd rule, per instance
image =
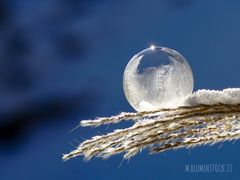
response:
[[[123,75],[123,89],[137,111],[173,108],[193,91],[187,60],[177,51],[151,46],[132,57]]]

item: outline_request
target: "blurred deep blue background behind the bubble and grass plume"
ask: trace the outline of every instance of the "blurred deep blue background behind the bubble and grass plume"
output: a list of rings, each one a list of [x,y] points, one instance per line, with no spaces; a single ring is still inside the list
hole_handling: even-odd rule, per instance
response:
[[[82,119],[133,111],[122,90],[129,59],[150,44],[192,66],[195,90],[240,87],[240,1],[0,1],[0,179],[239,179],[240,143],[180,149],[129,162],[61,160],[82,138],[115,126]],[[127,127],[120,124],[118,127]],[[186,164],[232,164],[188,173]]]

